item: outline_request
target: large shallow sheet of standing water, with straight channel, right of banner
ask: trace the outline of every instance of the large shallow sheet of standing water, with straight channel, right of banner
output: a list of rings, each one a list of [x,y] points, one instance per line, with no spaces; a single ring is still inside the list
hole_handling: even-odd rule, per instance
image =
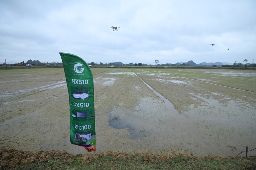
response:
[[[200,98],[205,101],[202,106],[191,105],[188,112],[179,114],[168,99],[147,83],[145,85],[160,100],[142,98],[133,111],[124,112],[115,108],[108,114],[110,126],[128,128],[129,138],[143,140],[148,149],[157,152],[159,148],[175,148],[195,155],[227,156],[236,154],[236,150],[243,150],[245,143],[256,144],[256,115],[250,105],[232,100],[224,105],[218,100],[194,95],[195,100]]]

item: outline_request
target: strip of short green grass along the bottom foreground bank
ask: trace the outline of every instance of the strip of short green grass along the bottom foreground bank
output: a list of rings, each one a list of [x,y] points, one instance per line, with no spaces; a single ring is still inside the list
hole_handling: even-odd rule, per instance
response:
[[[47,162],[32,163],[32,164],[19,164],[13,169],[24,170],[46,170],[46,169],[70,169],[70,170],[155,170],[155,169],[174,169],[174,170],[187,170],[187,169],[255,169],[256,157],[251,157],[250,160],[242,157],[210,157],[210,158],[189,158],[177,157],[171,158],[166,161],[157,161],[155,159],[148,160],[143,156],[126,156],[125,158],[114,158],[112,156],[102,156],[93,159],[90,162],[83,162],[82,157],[76,156],[72,162],[67,163],[64,159],[50,159]],[[5,169],[5,168],[3,168]],[[8,169],[8,168],[6,168]]]

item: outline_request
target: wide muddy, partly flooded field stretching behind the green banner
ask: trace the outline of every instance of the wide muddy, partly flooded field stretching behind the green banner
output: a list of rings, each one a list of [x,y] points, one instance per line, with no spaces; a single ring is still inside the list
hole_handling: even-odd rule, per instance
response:
[[[96,152],[227,156],[256,147],[256,71],[92,71]],[[62,68],[0,70],[0,128],[0,149],[87,153],[69,141]]]

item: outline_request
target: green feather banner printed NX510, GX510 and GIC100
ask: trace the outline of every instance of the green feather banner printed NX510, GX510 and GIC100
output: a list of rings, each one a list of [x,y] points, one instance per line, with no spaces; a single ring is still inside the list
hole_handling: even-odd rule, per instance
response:
[[[69,91],[70,142],[96,151],[93,74],[82,58],[59,54]]]

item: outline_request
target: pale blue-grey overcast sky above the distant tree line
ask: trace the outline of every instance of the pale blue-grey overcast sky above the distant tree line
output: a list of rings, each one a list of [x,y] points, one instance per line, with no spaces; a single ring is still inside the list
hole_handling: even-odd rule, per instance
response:
[[[0,0],[0,63],[61,62],[59,52],[88,63],[256,63],[256,1]]]

